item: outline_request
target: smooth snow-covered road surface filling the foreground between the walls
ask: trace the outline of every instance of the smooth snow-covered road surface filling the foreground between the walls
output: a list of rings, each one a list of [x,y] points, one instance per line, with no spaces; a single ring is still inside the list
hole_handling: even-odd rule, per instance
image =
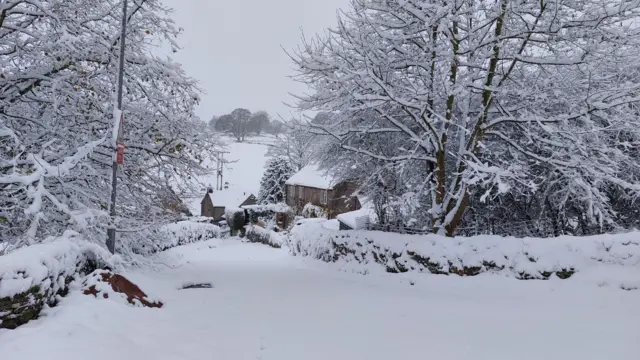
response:
[[[165,256],[179,265],[126,274],[162,299],[163,309],[76,292],[45,318],[0,331],[0,359],[619,360],[640,354],[638,291],[499,276],[362,276],[233,240]],[[177,290],[201,281],[214,288]]]

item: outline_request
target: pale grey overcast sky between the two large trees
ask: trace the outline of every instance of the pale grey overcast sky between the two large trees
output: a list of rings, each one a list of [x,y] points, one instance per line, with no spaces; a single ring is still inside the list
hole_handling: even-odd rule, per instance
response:
[[[336,24],[348,0],[164,0],[184,28],[173,57],[206,92],[197,114],[205,121],[238,107],[290,117],[289,92],[305,90],[287,76],[291,50],[306,36]]]

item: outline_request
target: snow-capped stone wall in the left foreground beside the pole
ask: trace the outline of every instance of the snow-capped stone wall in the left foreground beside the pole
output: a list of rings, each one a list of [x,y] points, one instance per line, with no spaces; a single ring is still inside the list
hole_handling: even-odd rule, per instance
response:
[[[0,328],[14,329],[55,306],[70,283],[111,263],[103,248],[66,236],[0,256]]]

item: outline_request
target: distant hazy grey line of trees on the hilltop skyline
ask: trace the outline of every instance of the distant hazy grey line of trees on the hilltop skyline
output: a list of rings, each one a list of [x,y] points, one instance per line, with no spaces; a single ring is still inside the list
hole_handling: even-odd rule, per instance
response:
[[[209,127],[217,132],[232,134],[238,141],[244,141],[249,135],[280,134],[284,128],[281,122],[272,120],[266,111],[252,113],[244,108],[214,116],[209,121]]]

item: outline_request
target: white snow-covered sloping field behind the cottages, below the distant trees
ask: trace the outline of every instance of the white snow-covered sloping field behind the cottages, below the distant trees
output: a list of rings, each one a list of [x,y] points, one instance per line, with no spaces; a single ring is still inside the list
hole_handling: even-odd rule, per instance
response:
[[[249,195],[258,195],[260,180],[267,161],[267,144],[273,142],[273,137],[251,137],[243,143],[236,142],[232,138],[225,138],[225,140],[228,141],[227,151],[229,153],[224,155],[224,159],[228,163],[224,166],[223,181],[229,183],[229,188],[215,191],[213,202],[215,206],[237,207]],[[215,161],[207,161],[205,164],[214,172],[205,178],[198,179],[198,181],[215,189],[216,163]],[[189,209],[194,215],[200,215],[200,201],[202,201],[204,194],[203,191],[201,196],[189,199]]]

